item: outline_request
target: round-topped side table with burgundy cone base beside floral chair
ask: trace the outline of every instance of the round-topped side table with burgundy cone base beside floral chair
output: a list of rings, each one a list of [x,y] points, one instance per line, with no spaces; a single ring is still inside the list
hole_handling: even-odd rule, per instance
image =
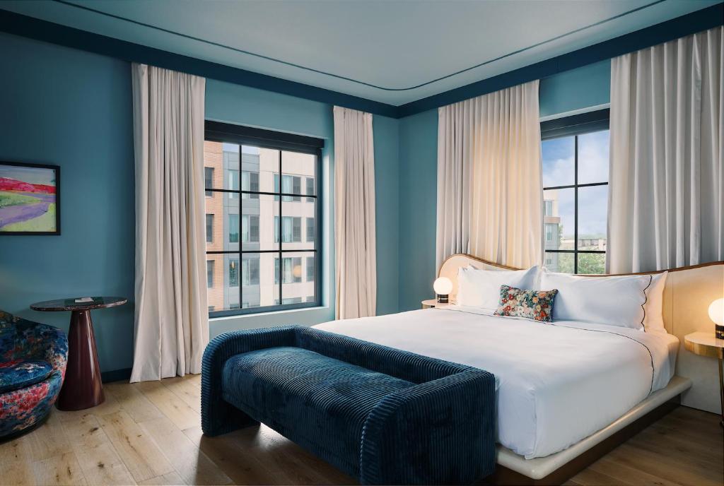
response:
[[[75,302],[73,299],[35,302],[32,310],[43,312],[71,311],[68,331],[68,365],[65,380],[60,389],[56,407],[59,410],[82,410],[102,404],[105,397],[101,383],[101,368],[98,367],[96,336],[93,334],[93,320],[90,311],[116,307],[127,302],[123,297],[92,297],[92,301]]]

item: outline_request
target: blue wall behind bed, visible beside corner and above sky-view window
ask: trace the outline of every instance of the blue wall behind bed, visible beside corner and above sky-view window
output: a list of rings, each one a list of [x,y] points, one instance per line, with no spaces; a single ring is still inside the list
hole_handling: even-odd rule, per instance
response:
[[[608,103],[610,61],[540,82],[541,116]],[[434,297],[437,218],[437,109],[400,119],[400,311]]]

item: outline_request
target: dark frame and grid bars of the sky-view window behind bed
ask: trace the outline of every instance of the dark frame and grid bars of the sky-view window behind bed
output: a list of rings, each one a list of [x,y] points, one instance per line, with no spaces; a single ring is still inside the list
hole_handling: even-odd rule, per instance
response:
[[[578,249],[578,189],[581,187],[608,186],[607,182],[590,182],[578,184],[578,136],[587,133],[602,132],[610,129],[610,109],[589,111],[586,113],[563,116],[562,118],[541,121],[541,143],[555,138],[573,137],[573,184],[562,186],[543,187],[543,191],[550,189],[573,189],[573,250],[545,250],[543,249],[543,261],[546,253],[569,253],[573,255],[573,273],[578,275],[578,255],[581,254],[603,254],[607,250],[579,250]],[[609,161],[610,164],[610,161]],[[543,199],[545,205],[545,199]],[[608,239],[608,235],[606,235]],[[543,225],[543,243],[545,243],[545,223]],[[544,245],[545,246],[545,245]]]

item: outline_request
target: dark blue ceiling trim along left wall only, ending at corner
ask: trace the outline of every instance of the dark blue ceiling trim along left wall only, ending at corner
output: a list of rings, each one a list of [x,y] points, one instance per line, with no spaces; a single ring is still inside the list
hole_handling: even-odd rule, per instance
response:
[[[204,61],[182,54],[162,51],[153,47],[121,41],[117,38],[90,33],[86,30],[36,19],[0,9],[0,31],[21,35],[37,41],[45,41],[82,51],[102,54],[129,62],[151,64],[165,69],[210,77],[214,80],[232,82],[260,90],[273,91],[311,101],[329,103],[345,108],[397,118],[397,106],[372,101],[359,96],[317,88],[301,82],[283,80],[279,77],[259,74],[237,67]],[[130,75],[130,71],[129,71]]]

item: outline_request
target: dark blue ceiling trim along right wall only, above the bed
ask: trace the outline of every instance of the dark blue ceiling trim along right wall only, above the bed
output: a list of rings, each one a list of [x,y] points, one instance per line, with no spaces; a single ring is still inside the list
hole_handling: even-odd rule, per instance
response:
[[[521,85],[524,82],[541,80],[559,72],[569,71],[577,67],[583,67],[595,62],[612,59],[622,54],[638,51],[657,44],[673,41],[686,35],[691,35],[702,30],[724,25],[724,3],[712,5],[705,9],[682,15],[660,24],[652,25],[635,32],[628,33],[584,47],[577,51],[553,57],[545,61],[530,64],[520,69],[498,74],[485,80],[476,81],[469,85],[461,86],[453,90],[445,91],[417,101],[411,101],[399,106],[398,118],[411,116],[428,111],[440,106],[458,103],[480,95],[487,95],[494,91]]]

